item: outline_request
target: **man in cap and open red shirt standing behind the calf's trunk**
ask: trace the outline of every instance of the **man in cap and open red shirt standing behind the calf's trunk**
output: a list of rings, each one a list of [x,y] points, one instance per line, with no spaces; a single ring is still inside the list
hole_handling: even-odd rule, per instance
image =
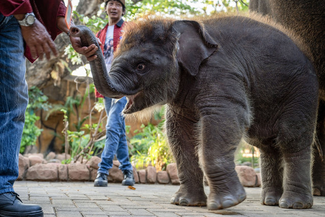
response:
[[[108,23],[100,30],[96,37],[102,42],[101,48],[104,55],[107,71],[110,70],[113,51],[121,38],[123,26],[122,16],[125,14],[125,0],[108,0],[105,2],[105,10],[108,14]],[[133,168],[129,159],[128,144],[125,135],[125,121],[122,110],[127,103],[126,97],[120,100],[102,96],[95,91],[96,97],[103,97],[107,114],[106,141],[102,152],[102,161],[95,179],[95,186],[107,186],[108,170],[113,167],[113,158],[120,161],[120,169],[123,171],[123,185],[134,185]]]

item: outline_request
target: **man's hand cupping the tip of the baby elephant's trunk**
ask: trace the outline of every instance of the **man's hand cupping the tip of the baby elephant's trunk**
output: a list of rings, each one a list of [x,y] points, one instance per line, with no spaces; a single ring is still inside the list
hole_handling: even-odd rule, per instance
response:
[[[84,55],[87,58],[87,61],[93,61],[97,58],[97,55],[95,55],[96,51],[98,50],[98,47],[95,44],[91,44],[88,47],[82,47],[80,38],[75,38],[70,36],[70,41],[72,44],[73,49],[80,53],[81,55]],[[102,45],[99,38],[97,38],[97,41],[99,45]]]

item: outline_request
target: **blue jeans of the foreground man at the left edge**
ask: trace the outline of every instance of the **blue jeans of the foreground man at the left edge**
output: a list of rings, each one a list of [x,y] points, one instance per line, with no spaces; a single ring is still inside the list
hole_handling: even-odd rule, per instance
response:
[[[0,14],[0,194],[14,192],[28,89],[17,20]]]

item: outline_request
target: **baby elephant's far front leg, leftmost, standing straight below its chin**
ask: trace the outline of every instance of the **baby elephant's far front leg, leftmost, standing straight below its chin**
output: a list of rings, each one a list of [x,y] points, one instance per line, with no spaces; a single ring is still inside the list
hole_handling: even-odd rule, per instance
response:
[[[203,172],[196,154],[195,121],[167,108],[166,132],[168,143],[176,161],[180,189],[170,203],[183,206],[205,206]]]

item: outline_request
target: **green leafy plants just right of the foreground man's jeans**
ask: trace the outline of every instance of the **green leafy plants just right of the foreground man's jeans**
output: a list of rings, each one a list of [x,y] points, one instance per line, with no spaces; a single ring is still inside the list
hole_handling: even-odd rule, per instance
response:
[[[39,137],[42,132],[42,129],[35,125],[35,122],[40,119],[40,117],[35,114],[35,111],[38,109],[47,111],[51,107],[47,103],[48,97],[37,87],[29,89],[28,97],[29,101],[25,112],[25,125],[22,131],[20,153],[24,152],[26,146],[35,145],[37,137]]]

